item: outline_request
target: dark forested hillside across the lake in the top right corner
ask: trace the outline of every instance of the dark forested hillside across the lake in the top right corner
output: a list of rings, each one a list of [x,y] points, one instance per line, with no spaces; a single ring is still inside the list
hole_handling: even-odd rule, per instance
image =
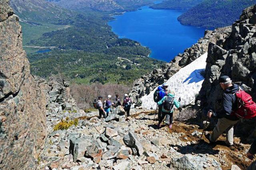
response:
[[[204,0],[178,17],[184,25],[204,28],[230,26],[240,14],[256,0]]]

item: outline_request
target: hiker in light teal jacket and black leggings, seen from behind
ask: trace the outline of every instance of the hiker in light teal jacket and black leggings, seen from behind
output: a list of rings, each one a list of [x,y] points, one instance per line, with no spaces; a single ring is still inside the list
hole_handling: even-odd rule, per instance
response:
[[[157,104],[158,105],[163,105],[163,107],[162,107],[162,116],[161,116],[161,118],[159,119],[159,123],[158,123],[158,127],[160,128],[160,124],[162,123],[162,121],[164,120],[164,117],[166,116],[166,115],[170,115],[170,124],[169,124],[169,128],[171,129],[172,128],[172,121],[173,121],[173,107],[170,109],[170,110],[166,110],[166,109],[164,109],[164,107],[165,107],[165,102],[166,102],[166,98],[167,97],[172,97],[172,98],[174,98],[174,94],[170,91],[170,90],[168,90],[168,92],[167,92],[167,96],[165,96],[164,98],[162,98]],[[173,101],[173,105],[175,105],[177,108],[179,108],[180,107],[180,101],[177,101],[176,99],[174,99],[174,101]]]

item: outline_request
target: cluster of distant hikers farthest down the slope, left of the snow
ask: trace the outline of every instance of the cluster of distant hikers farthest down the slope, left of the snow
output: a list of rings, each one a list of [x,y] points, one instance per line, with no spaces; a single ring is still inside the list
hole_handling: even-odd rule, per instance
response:
[[[111,95],[108,95],[108,98],[103,102],[102,96],[98,97],[98,101],[94,99],[94,108],[99,110],[99,118],[103,116],[103,118],[108,117],[109,113],[112,112],[112,108],[116,108],[118,106],[122,106],[124,108],[124,111],[127,114],[127,117],[130,116],[130,109],[132,107],[132,99],[128,96],[128,94],[124,95],[123,103],[121,102],[121,99],[119,98],[119,95],[116,94],[116,97],[114,99],[114,102],[111,102]],[[134,108],[140,107],[142,105],[142,101],[139,99],[138,96],[136,96],[136,103],[134,105]],[[112,108],[111,108],[112,107]]]

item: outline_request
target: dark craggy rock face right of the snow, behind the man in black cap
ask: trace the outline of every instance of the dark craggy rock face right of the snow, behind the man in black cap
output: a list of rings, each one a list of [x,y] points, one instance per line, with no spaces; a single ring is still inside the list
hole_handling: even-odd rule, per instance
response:
[[[245,9],[232,25],[231,34],[208,47],[205,80],[200,91],[203,107],[221,109],[220,75],[228,75],[239,82],[256,99],[256,6]],[[203,102],[204,101],[204,102]]]

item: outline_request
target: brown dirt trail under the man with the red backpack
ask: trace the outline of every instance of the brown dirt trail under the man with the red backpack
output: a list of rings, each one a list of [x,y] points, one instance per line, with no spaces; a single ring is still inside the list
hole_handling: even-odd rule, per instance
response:
[[[150,115],[152,119],[143,119],[140,115]],[[156,125],[157,121],[154,120],[154,111],[139,112],[132,115],[135,119],[145,120],[148,126]],[[156,115],[157,117],[157,115]],[[214,144],[210,144],[205,136],[199,142],[200,136],[192,136],[192,132],[197,130],[202,132],[198,125],[187,125],[182,122],[174,122],[173,128],[170,130],[168,125],[162,125],[161,130],[169,132],[170,134],[182,134],[178,139],[186,142],[186,146],[173,145],[172,147],[182,154],[195,153],[195,154],[208,154],[216,159],[222,165],[223,170],[230,170],[233,164],[239,166],[242,170],[246,170],[251,161],[245,157],[245,153],[250,148],[250,144],[240,144],[240,138],[234,136],[234,143],[236,150],[230,150],[225,146],[226,134],[222,134]],[[211,133],[211,131],[210,131]]]

